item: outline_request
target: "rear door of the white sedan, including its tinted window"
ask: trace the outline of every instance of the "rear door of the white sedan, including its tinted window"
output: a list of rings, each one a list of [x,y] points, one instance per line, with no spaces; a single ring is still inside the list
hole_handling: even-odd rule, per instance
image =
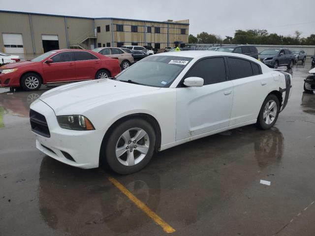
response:
[[[229,125],[257,118],[261,105],[268,95],[268,78],[262,74],[260,65],[251,60],[227,58],[234,100]]]

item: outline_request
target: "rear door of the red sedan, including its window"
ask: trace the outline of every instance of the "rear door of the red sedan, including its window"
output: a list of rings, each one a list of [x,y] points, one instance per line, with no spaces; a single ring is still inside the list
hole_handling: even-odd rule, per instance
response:
[[[100,59],[86,51],[74,51],[75,75],[77,80],[95,79]]]

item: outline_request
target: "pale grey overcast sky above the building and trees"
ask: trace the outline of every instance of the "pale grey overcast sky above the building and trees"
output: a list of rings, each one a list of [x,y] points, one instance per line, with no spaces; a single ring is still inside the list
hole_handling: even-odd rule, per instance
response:
[[[0,10],[151,21],[189,19],[189,33],[196,36],[206,31],[223,39],[234,36],[236,29],[315,34],[315,0],[14,0],[14,4],[7,0],[1,2]]]

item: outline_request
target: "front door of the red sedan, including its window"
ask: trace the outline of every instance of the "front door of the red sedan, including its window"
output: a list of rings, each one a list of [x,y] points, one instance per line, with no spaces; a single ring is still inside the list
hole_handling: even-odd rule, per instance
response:
[[[76,80],[73,52],[61,52],[50,59],[52,63],[43,63],[44,80],[46,83]]]

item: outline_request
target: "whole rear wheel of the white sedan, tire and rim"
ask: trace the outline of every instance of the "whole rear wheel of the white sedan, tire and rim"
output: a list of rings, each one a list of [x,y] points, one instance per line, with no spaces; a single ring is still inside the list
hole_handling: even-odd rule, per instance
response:
[[[277,107],[275,109],[275,106],[274,106],[271,110],[267,110],[269,112],[267,112],[267,116],[265,116],[265,118],[264,118],[264,114],[265,114],[266,109],[267,109],[267,104],[270,106],[270,105],[272,105],[272,102],[274,102]],[[264,129],[264,130],[270,129],[276,123],[278,116],[279,116],[279,112],[280,112],[280,105],[279,105],[278,97],[274,94],[268,95],[265,98],[265,100],[262,103],[262,106],[260,108],[260,112],[259,112],[259,115],[257,117],[257,126],[260,129]]]

